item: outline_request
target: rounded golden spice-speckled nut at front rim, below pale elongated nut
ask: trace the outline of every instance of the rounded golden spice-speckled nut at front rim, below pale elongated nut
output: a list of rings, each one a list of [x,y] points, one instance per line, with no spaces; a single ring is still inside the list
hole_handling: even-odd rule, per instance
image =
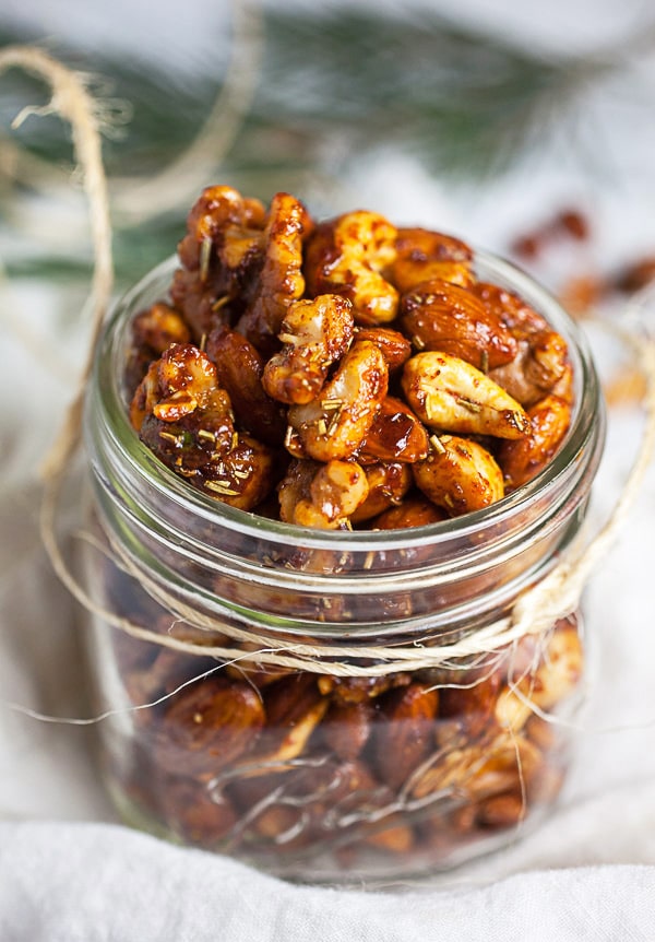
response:
[[[502,471],[473,439],[434,436],[428,458],[413,464],[412,471],[426,497],[451,516],[488,507],[504,495]]]

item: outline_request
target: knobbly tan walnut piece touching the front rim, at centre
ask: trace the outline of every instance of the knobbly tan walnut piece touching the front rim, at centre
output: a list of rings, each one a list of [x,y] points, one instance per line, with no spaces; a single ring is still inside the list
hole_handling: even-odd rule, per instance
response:
[[[287,523],[343,529],[366,499],[367,475],[355,461],[291,461],[278,486],[279,516]]]

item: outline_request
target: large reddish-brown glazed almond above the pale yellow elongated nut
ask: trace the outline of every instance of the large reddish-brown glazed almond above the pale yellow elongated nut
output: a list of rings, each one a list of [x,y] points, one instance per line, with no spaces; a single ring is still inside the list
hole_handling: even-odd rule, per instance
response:
[[[498,314],[471,291],[427,281],[403,295],[402,325],[418,350],[439,350],[487,372],[511,363],[519,344]]]

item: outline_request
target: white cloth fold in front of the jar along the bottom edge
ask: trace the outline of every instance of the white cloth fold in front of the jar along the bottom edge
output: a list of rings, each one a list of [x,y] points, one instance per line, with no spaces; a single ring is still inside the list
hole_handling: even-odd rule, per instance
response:
[[[0,872],[2,942],[646,942],[655,925],[651,867],[522,873],[448,893],[340,892],[111,825],[24,823],[0,825]]]

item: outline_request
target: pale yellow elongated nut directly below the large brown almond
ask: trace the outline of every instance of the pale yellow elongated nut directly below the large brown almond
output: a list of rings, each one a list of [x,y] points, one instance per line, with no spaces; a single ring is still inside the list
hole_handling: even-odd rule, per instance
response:
[[[417,353],[405,364],[402,385],[410,408],[430,428],[499,438],[529,431],[523,407],[457,356]]]

